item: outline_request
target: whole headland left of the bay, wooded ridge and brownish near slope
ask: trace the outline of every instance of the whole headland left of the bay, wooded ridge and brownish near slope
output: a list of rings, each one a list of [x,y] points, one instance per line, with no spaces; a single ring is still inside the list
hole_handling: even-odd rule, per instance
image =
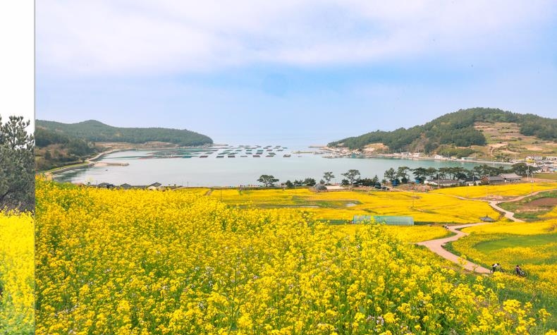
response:
[[[78,123],[35,121],[37,171],[82,164],[107,149],[126,147],[199,147],[212,145],[207,135],[185,129],[121,128],[96,120]]]

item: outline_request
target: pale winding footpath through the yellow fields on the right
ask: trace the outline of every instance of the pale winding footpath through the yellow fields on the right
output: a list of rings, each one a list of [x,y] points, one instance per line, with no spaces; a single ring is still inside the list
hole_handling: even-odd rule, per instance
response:
[[[489,205],[491,207],[493,207],[493,209],[495,209],[498,212],[502,212],[507,219],[510,219],[512,221],[515,221],[515,222],[524,222],[521,219],[515,218],[515,213],[509,212],[508,210],[499,207],[498,204],[500,204],[501,202],[520,201],[520,200],[524,199],[525,197],[532,197],[532,196],[537,195],[538,193],[541,193],[541,192],[549,192],[549,191],[554,191],[554,190],[557,190],[557,189],[554,188],[554,189],[550,189],[550,190],[539,190],[539,191],[536,191],[536,192],[529,193],[527,195],[521,195],[520,197],[515,197],[511,200],[503,200],[503,201],[488,200],[487,202],[489,203]],[[462,198],[462,197],[459,197],[459,198],[460,199],[465,199],[465,198]],[[477,200],[477,199],[467,199],[467,200]],[[482,201],[482,200],[479,200],[479,201]],[[485,267],[482,267],[479,264],[472,263],[468,260],[463,260],[459,256],[453,254],[452,252],[448,252],[447,250],[445,250],[445,248],[443,248],[443,245],[445,245],[446,243],[453,242],[455,240],[458,240],[459,238],[463,238],[464,236],[468,235],[468,233],[464,233],[463,231],[460,231],[460,229],[467,228],[467,227],[472,227],[472,226],[481,226],[482,224],[487,224],[487,223],[486,222],[480,222],[480,223],[477,223],[477,224],[461,224],[459,226],[448,226],[448,230],[455,233],[455,235],[447,237],[447,238],[438,238],[436,240],[424,240],[423,242],[416,243],[416,244],[417,245],[423,245],[424,247],[428,248],[432,252],[435,252],[437,255],[445,258],[446,260],[450,260],[451,262],[454,262],[456,264],[463,264],[463,267],[465,269],[467,269],[468,271],[477,272],[479,274],[489,274],[489,273],[491,273],[491,271],[489,269],[486,269]]]

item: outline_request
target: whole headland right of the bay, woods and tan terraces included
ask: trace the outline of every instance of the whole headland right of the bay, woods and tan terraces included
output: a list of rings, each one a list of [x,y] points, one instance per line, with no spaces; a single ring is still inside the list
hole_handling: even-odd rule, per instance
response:
[[[327,147],[367,154],[422,152],[510,161],[530,155],[555,155],[557,119],[493,108],[460,109],[422,126],[376,130],[329,142]]]

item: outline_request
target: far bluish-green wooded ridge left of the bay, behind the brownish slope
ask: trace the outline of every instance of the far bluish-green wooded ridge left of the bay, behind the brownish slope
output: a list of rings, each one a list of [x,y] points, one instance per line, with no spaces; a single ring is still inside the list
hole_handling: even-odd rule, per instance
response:
[[[89,120],[79,123],[60,123],[37,120],[36,128],[49,130],[70,138],[91,142],[169,142],[181,146],[210,145],[213,140],[191,130],[169,128],[119,128]],[[37,138],[39,140],[39,138]]]

